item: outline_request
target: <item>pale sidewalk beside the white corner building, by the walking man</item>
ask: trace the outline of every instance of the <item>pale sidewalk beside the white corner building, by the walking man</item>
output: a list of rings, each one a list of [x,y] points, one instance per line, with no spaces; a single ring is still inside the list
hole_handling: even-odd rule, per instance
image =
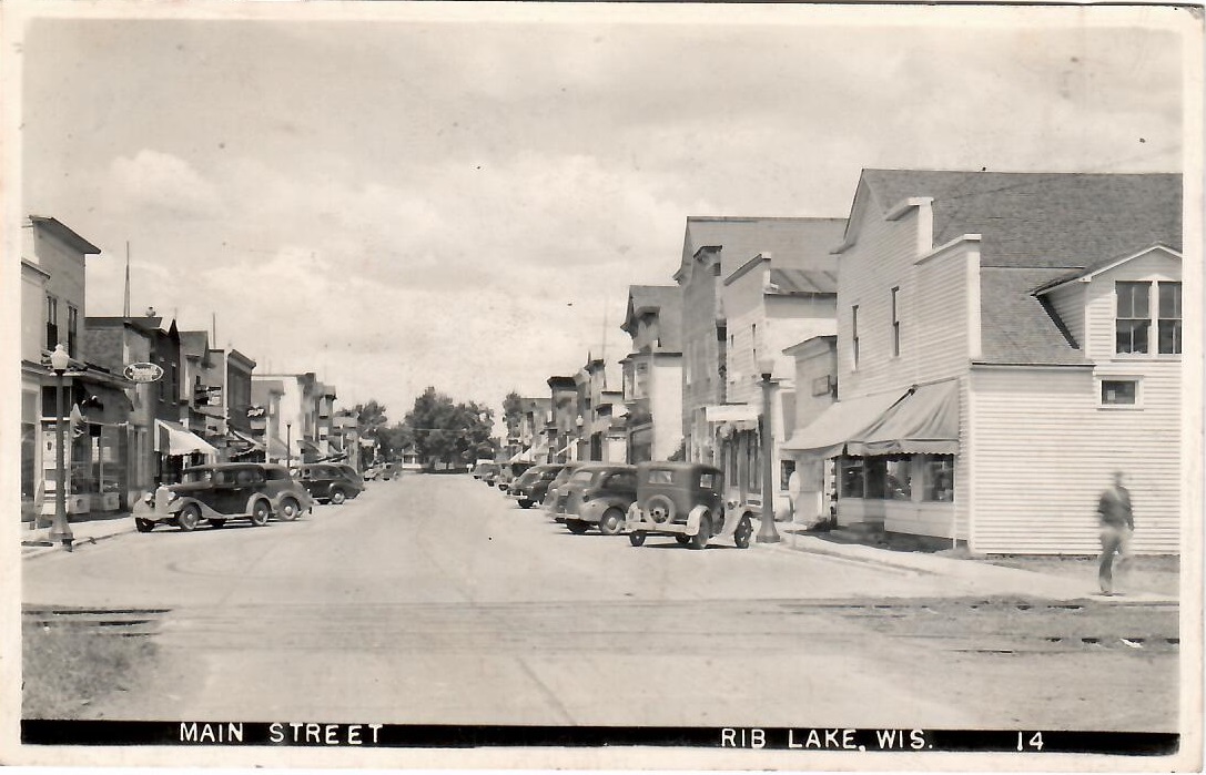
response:
[[[769,545],[769,548],[775,551],[807,552],[915,574],[937,575],[949,579],[953,586],[966,588],[968,595],[1093,600],[1110,605],[1177,605],[1178,603],[1176,595],[1140,591],[1107,597],[1097,592],[1096,577],[1075,579],[933,552],[907,552],[865,544],[839,544],[809,535],[801,526],[789,523],[778,527],[781,541]]]

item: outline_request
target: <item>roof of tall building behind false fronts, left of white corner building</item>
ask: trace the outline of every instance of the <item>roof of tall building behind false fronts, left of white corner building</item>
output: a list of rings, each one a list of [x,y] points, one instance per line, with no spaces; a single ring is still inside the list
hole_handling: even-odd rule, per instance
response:
[[[721,277],[727,277],[759,253],[769,253],[777,266],[837,271],[830,254],[842,242],[845,218],[738,218],[691,216],[683,237],[679,272],[704,247],[721,249]],[[675,277],[681,276],[675,274]]]

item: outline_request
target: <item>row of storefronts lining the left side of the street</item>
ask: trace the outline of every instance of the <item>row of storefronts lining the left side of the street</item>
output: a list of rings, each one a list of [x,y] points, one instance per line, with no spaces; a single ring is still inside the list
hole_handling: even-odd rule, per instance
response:
[[[154,310],[84,317],[86,262],[100,248],[55,218],[30,216],[24,227],[23,519],[53,513],[60,485],[78,519],[128,511],[203,463],[359,464],[358,422],[335,411],[334,388],[315,374],[256,375],[256,362],[218,347],[212,331],[180,331]],[[60,372],[51,368],[57,347]]]

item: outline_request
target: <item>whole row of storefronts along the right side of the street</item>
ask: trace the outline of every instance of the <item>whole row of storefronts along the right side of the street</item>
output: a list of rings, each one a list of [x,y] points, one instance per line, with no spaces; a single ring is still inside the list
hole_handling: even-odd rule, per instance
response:
[[[844,218],[689,218],[675,284],[630,289],[622,378],[591,358],[550,378],[526,433],[550,459],[716,465],[754,515],[978,553],[1095,552],[1124,471],[1135,548],[1177,552],[1181,187],[865,170]]]

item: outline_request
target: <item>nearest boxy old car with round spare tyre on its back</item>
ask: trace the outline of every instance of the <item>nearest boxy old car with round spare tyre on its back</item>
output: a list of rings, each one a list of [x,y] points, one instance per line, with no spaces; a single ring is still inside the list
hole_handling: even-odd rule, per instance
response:
[[[725,482],[720,469],[701,463],[638,463],[637,500],[628,507],[625,528],[633,546],[649,535],[673,535],[679,544],[704,548],[727,530],[739,548],[750,545],[749,515],[725,524]]]

